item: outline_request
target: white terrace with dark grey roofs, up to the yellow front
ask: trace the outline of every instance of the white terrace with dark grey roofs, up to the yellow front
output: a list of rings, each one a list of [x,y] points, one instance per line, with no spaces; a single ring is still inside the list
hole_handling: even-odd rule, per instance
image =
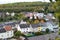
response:
[[[41,31],[39,24],[17,24],[17,30],[22,33]]]

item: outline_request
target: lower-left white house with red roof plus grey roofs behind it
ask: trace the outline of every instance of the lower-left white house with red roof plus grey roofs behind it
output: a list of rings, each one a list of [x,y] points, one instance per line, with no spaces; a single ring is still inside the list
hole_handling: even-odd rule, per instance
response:
[[[0,24],[0,39],[5,40],[14,36],[15,23],[5,22]]]

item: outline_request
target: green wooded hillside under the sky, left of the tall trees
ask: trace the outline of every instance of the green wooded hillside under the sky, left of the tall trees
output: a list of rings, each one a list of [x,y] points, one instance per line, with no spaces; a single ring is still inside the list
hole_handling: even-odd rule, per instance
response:
[[[20,2],[10,4],[0,4],[1,12],[22,12],[22,11],[41,11],[42,8],[48,6],[47,2]]]

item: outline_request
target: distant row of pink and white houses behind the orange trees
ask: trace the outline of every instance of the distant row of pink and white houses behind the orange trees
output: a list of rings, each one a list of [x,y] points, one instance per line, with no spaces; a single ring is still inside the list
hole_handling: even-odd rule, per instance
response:
[[[38,13],[38,12],[33,12],[33,13],[27,12],[25,13],[25,16],[29,17],[30,19],[32,19],[33,16],[34,16],[34,19],[37,19],[37,17],[38,19],[45,19],[45,20],[55,19],[53,13],[47,13],[46,15],[44,13]]]

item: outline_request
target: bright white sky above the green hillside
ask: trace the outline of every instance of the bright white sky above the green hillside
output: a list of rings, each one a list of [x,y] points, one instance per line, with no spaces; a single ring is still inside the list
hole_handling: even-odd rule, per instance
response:
[[[15,2],[34,2],[34,1],[49,2],[49,0],[0,0],[0,4],[15,3]]]

